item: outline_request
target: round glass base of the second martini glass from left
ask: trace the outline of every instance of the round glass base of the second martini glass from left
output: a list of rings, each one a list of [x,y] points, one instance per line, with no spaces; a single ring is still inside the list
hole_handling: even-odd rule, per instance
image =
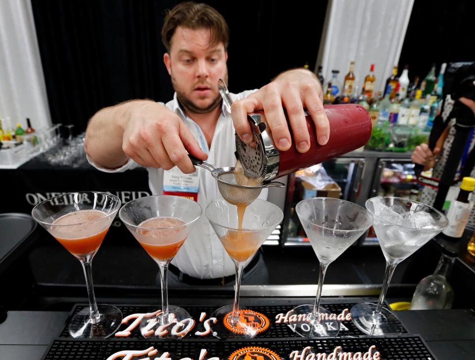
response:
[[[154,318],[144,318],[140,323],[140,332],[147,339],[181,339],[188,334],[194,324],[191,321],[184,321],[183,326],[174,330],[175,324],[185,319],[192,320],[188,311],[179,306],[169,305],[167,318],[163,317],[161,312]]]

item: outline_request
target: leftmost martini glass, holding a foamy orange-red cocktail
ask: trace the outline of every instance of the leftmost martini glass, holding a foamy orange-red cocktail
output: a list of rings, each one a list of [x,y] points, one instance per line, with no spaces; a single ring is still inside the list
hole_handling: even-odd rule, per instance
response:
[[[77,313],[69,324],[74,338],[106,338],[120,326],[122,313],[112,305],[97,305],[92,261],[120,208],[114,195],[82,191],[57,196],[36,205],[31,214],[83,266],[89,308]]]

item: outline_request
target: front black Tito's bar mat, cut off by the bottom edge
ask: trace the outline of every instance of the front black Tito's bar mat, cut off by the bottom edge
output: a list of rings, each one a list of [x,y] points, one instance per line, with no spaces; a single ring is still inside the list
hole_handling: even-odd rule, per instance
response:
[[[311,353],[335,352],[336,360],[340,352],[368,352],[374,346],[373,354],[380,352],[381,360],[435,360],[424,341],[418,335],[401,335],[394,338],[325,338],[325,339],[279,339],[274,341],[149,341],[149,340],[69,340],[56,339],[49,346],[44,360],[106,360],[108,358],[122,360],[126,355],[118,355],[122,351],[142,351],[142,354],[130,357],[132,360],[155,360],[167,352],[170,360],[189,358],[194,360],[207,360],[219,358],[220,360],[299,360],[310,359]],[[153,349],[150,349],[152,348]],[[301,357],[306,347],[304,356]],[[204,349],[206,351],[202,350]],[[147,352],[143,352],[147,350]],[[155,351],[156,350],[156,351]],[[298,351],[298,354],[292,352]],[[115,357],[113,357],[115,355]],[[201,355],[201,356],[200,356]],[[295,357],[295,355],[298,355]],[[299,357],[300,356],[300,357]],[[163,356],[162,359],[164,359]],[[315,356],[315,359],[318,359]],[[349,358],[342,358],[349,359]],[[361,357],[363,359],[363,357]],[[366,358],[365,358],[366,359]]]

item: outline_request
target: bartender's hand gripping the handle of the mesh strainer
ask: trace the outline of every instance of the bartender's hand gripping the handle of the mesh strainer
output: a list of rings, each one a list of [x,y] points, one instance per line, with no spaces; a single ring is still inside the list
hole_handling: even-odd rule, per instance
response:
[[[186,174],[195,171],[188,153],[207,158],[180,117],[152,101],[131,103],[122,150],[142,166],[169,170],[176,165]]]

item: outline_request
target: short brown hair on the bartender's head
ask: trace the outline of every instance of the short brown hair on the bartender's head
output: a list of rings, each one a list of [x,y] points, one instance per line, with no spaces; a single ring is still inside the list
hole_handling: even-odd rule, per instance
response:
[[[209,29],[211,32],[210,45],[222,42],[224,49],[228,49],[228,24],[223,15],[207,4],[187,1],[167,12],[163,22],[162,41],[168,52],[170,52],[171,39],[179,26],[192,30]]]

